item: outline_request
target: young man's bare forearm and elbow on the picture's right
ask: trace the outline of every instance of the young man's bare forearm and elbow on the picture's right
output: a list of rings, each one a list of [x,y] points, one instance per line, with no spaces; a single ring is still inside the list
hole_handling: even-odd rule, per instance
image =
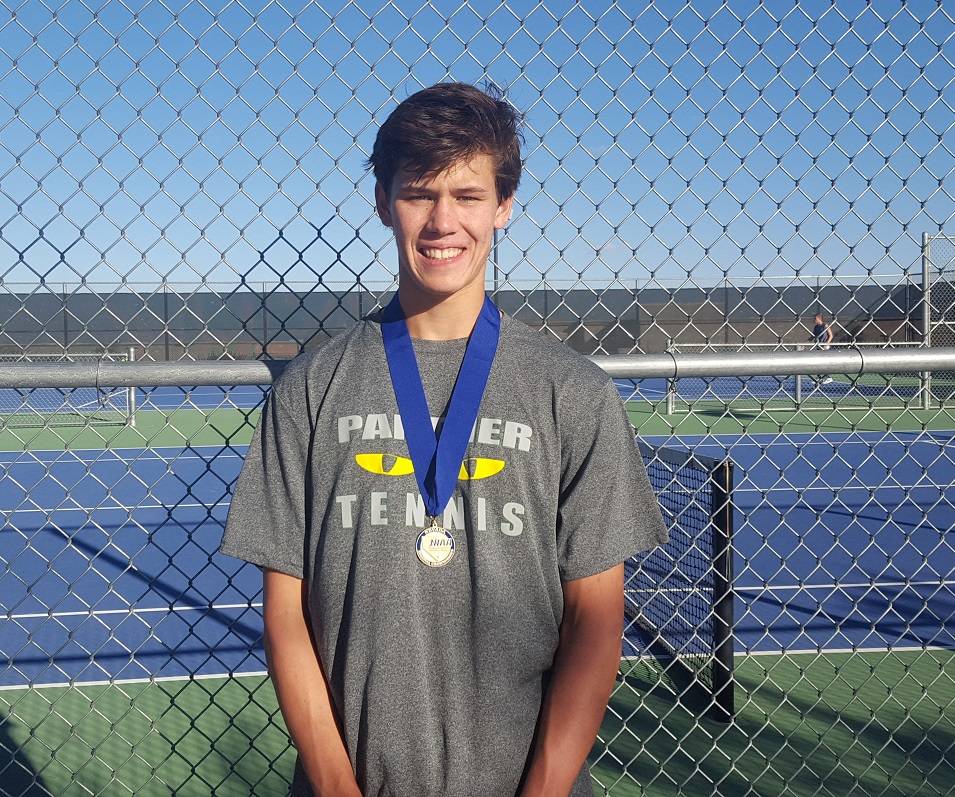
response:
[[[521,797],[567,795],[600,729],[620,666],[623,565],[565,581],[564,616]]]

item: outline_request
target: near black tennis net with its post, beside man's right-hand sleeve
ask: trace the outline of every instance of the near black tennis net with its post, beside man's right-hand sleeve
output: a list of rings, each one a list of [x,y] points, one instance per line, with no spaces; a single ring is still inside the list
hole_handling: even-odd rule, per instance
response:
[[[732,463],[639,446],[670,537],[666,545],[625,563],[625,613],[643,630],[650,652],[668,668],[669,662],[681,668],[689,686],[702,692],[710,716],[729,721],[734,712]]]

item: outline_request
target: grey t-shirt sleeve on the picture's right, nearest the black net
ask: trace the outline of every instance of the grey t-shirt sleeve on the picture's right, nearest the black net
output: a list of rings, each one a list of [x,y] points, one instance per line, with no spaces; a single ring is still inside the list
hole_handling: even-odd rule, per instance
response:
[[[613,383],[586,409],[562,435],[557,547],[564,581],[602,573],[667,540]]]

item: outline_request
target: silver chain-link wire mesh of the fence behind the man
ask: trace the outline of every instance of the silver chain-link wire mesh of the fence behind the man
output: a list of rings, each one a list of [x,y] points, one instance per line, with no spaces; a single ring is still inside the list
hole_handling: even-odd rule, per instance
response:
[[[732,716],[629,624],[595,791],[955,793],[955,371],[726,360],[814,348],[817,313],[830,353],[955,342],[943,2],[0,0],[0,375],[348,328],[395,288],[375,130],[452,79],[525,113],[502,309],[724,357],[617,385],[651,464],[733,465],[660,486],[674,528],[731,515]],[[266,386],[60,373],[0,388],[0,794],[282,793],[261,576],[216,553]]]

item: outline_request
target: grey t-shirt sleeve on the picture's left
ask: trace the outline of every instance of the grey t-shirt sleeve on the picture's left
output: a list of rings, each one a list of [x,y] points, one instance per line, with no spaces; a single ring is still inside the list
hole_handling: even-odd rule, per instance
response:
[[[273,388],[235,486],[221,553],[303,577],[308,439]]]

